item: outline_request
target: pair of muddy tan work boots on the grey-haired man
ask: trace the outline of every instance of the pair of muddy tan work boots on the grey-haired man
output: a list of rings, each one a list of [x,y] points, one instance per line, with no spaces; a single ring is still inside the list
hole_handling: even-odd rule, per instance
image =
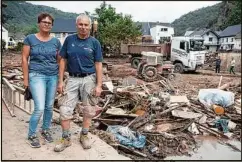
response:
[[[82,133],[80,134],[80,143],[84,149],[91,148],[91,140],[87,134],[82,134]],[[54,151],[61,152],[69,146],[71,146],[71,137],[70,136],[62,137],[60,143],[55,146]]]

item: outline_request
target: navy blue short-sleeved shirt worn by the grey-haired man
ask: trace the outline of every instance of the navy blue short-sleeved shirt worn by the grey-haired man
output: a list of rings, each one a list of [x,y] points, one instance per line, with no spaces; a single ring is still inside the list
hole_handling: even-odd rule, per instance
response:
[[[67,60],[69,73],[95,73],[95,62],[102,62],[101,45],[94,37],[80,39],[77,34],[66,37],[60,56]]]

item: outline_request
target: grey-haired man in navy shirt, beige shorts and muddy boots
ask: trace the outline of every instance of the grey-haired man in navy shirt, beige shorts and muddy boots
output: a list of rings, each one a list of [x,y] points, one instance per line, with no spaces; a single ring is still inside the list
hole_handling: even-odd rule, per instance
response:
[[[102,53],[99,41],[90,36],[91,20],[87,15],[76,18],[77,34],[69,35],[60,52],[62,57],[59,67],[58,92],[63,93],[60,106],[62,140],[54,151],[63,151],[71,145],[70,119],[73,110],[81,98],[83,104],[83,127],[80,133],[80,143],[84,149],[90,149],[88,137],[92,117],[95,115],[97,96],[102,91]],[[63,75],[67,62],[69,79],[63,90]]]

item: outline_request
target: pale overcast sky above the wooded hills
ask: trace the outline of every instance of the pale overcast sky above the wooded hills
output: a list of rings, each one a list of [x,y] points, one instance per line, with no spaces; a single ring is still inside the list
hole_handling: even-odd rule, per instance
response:
[[[27,1],[32,4],[57,8],[64,12],[94,13],[102,1]],[[132,15],[134,21],[171,23],[180,16],[221,1],[106,1],[117,13]]]

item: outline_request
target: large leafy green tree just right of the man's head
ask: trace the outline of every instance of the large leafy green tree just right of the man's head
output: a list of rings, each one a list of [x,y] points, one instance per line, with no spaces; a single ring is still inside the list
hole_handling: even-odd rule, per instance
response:
[[[111,47],[115,53],[120,51],[121,43],[135,42],[141,36],[140,28],[130,15],[118,14],[115,8],[103,2],[95,9],[98,21],[98,39],[105,47]]]

